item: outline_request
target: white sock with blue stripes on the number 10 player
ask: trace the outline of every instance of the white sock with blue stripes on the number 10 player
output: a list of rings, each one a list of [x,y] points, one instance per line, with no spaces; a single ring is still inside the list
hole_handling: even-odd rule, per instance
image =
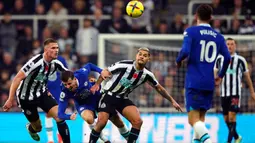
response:
[[[196,122],[193,125],[194,132],[196,132],[200,142],[202,143],[212,143],[210,136],[208,134],[208,130],[205,127],[205,124],[201,121]]]

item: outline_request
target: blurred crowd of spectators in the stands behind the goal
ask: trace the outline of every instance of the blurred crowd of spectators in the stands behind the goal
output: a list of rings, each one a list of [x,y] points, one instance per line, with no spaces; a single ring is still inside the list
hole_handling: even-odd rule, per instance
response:
[[[42,53],[42,43],[47,38],[58,40],[60,55],[67,60],[68,68],[75,70],[87,62],[97,64],[97,39],[100,33],[182,34],[191,26],[183,17],[187,14],[186,5],[189,0],[140,1],[145,6],[144,14],[138,19],[130,19],[125,12],[129,0],[0,0],[0,106],[8,98],[12,78],[31,56]],[[177,3],[178,6],[182,6],[180,11],[175,10]],[[225,20],[213,19],[211,25],[218,32],[255,34],[254,19],[252,19],[252,15],[255,14],[254,0],[212,0],[211,5],[215,15],[233,16],[230,26]],[[193,8],[194,12],[196,6]],[[51,19],[38,22],[36,36],[38,38],[35,39],[33,21],[13,20],[13,15],[45,15]],[[77,20],[66,19],[69,15],[91,15],[93,19],[84,18],[83,26],[79,27]],[[104,15],[111,18],[103,19]],[[239,20],[240,15],[245,16],[245,19]],[[194,21],[192,25],[195,24]],[[250,57],[247,61],[253,81],[255,81],[255,67],[253,68],[252,65],[255,65],[255,58],[251,57],[254,54],[250,51],[243,52],[244,56]],[[152,60],[149,67],[154,69],[153,72],[159,81],[184,106],[185,69],[180,69],[182,75],[177,75],[180,71],[173,66],[176,56],[177,53],[156,52],[152,55],[154,61]],[[136,100],[138,106],[170,106],[160,95],[150,91],[151,88],[147,85],[145,88],[139,88],[139,93],[142,95],[136,95],[136,99],[139,97],[139,100]],[[243,91],[247,92],[246,89]],[[247,104],[250,102],[249,93],[245,95],[247,98],[242,100],[245,102],[242,111],[250,112],[254,105]],[[215,101],[219,103],[219,98],[215,98]],[[16,103],[14,105],[17,106]],[[14,108],[13,111],[19,109]]]

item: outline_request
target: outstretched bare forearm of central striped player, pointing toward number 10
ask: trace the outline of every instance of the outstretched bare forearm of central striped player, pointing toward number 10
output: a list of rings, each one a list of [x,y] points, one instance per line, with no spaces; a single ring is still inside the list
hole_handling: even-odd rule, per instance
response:
[[[158,85],[154,86],[154,88],[157,90],[157,92],[161,96],[163,96],[168,101],[170,101],[176,110],[183,112],[180,105],[174,100],[174,98],[166,91],[166,89],[162,85],[158,84]]]

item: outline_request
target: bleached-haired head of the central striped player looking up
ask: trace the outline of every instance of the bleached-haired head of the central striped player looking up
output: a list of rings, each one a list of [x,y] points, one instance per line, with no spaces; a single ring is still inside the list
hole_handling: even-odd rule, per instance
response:
[[[150,60],[150,50],[145,47],[139,48],[136,54],[136,63],[138,63],[141,66],[145,66],[145,64],[149,60]]]

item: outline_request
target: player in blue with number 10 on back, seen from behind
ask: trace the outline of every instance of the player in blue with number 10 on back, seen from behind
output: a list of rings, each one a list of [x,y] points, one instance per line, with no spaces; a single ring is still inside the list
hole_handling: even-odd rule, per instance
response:
[[[182,61],[188,58],[186,109],[189,124],[194,129],[193,142],[196,143],[212,143],[204,124],[205,114],[211,108],[215,84],[220,84],[231,58],[224,37],[209,25],[212,13],[209,5],[202,4],[197,8],[198,25],[184,32],[183,46],[176,59],[176,64],[180,67]],[[221,71],[214,77],[213,67],[219,53],[225,60]]]

